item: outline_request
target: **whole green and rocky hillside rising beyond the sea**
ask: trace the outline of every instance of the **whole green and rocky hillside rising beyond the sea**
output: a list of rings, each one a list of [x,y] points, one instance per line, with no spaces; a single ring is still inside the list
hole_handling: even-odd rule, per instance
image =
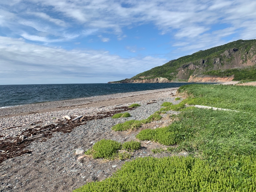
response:
[[[248,78],[246,75],[240,78],[240,72],[244,74],[248,70],[252,74],[249,79],[255,79],[255,64],[256,40],[237,40],[171,60],[130,79],[108,83],[166,83],[188,81],[191,75],[234,77],[235,74],[237,79],[244,80]]]

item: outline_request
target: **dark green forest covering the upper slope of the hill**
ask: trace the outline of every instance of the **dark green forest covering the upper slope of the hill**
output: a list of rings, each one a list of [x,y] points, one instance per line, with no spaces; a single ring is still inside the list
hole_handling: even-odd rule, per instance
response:
[[[240,52],[241,55],[244,55],[244,54],[250,52],[252,50],[251,48],[255,49],[255,44],[256,44],[255,39],[254,40],[237,40],[237,41],[234,41],[234,42],[231,42],[228,44],[213,47],[211,49],[199,51],[199,52],[193,53],[192,55],[180,57],[176,60],[171,60],[162,66],[152,68],[148,71],[145,71],[136,76],[133,76],[131,79],[133,79],[133,80],[141,79],[142,80],[142,79],[152,79],[152,78],[156,78],[156,77],[165,77],[168,80],[177,79],[177,75],[178,75],[177,69],[179,69],[180,67],[188,69],[187,67],[188,67],[189,63],[193,63],[194,65],[204,65],[205,70],[211,71],[214,66],[215,58],[219,58],[220,61],[224,61],[227,64],[229,64],[230,61],[233,59],[233,58],[232,59],[226,58],[226,56],[223,55],[223,53],[226,50],[237,48],[239,50],[238,52]],[[253,54],[255,54],[255,50],[254,50]],[[204,60],[204,63],[202,63],[203,60]],[[223,64],[221,64],[221,65],[223,65]],[[194,71],[195,70],[188,69],[188,71],[187,71],[187,73],[189,74],[188,77],[190,75],[192,75]],[[197,71],[197,73],[198,73],[198,71]],[[225,74],[225,73],[224,73],[224,75],[226,76],[227,74]],[[228,71],[227,71],[227,73],[228,73]],[[144,78],[140,78],[141,76],[143,76]],[[248,79],[246,75],[243,78]],[[242,80],[242,79],[239,79],[239,80]],[[184,80],[182,80],[182,81],[184,81]]]

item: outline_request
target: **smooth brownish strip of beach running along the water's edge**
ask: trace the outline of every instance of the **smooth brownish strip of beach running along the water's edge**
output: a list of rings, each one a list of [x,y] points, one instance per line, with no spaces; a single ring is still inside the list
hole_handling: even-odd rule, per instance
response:
[[[115,93],[70,100],[48,101],[42,103],[25,104],[14,107],[0,108],[0,119],[13,116],[26,116],[35,113],[46,113],[66,109],[102,107],[120,105],[129,102],[142,101],[157,97],[161,92],[175,91],[179,87],[146,90],[138,92]]]

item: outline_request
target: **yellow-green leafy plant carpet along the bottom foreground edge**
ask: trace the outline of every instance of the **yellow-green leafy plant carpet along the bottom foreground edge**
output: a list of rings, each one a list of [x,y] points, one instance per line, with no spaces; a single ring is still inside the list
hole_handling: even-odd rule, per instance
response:
[[[254,156],[219,160],[215,165],[194,157],[137,158],[112,177],[74,192],[253,192]]]

